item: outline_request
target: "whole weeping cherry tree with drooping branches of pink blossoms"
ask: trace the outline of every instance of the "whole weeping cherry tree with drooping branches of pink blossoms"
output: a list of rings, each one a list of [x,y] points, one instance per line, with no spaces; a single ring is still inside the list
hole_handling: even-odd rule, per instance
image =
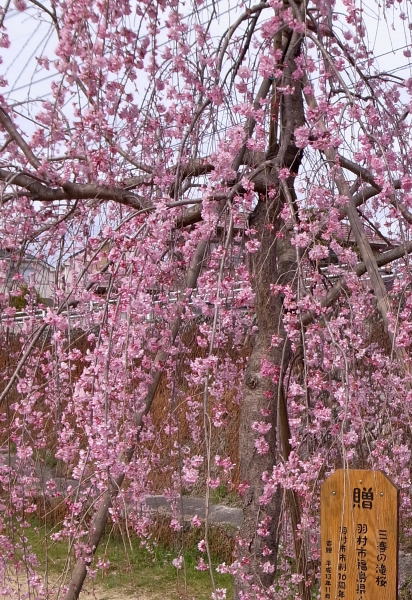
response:
[[[148,539],[151,493],[173,501],[175,531],[179,498],[204,496],[215,600],[220,485],[243,508],[218,567],[239,600],[310,597],[319,484],[336,468],[390,475],[410,539],[410,12],[1,9],[4,589],[24,564],[47,596],[25,538],[45,502],[64,508],[55,537],[73,550],[65,600],[125,506]],[[28,254],[53,273],[47,306],[19,267]],[[50,457],[63,492],[44,476]]]

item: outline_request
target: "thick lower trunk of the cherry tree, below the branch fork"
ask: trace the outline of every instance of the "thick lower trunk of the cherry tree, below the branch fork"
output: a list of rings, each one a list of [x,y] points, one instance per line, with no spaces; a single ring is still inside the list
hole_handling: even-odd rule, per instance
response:
[[[295,251],[288,237],[276,239],[276,233],[283,225],[278,216],[281,206],[280,197],[260,201],[252,223],[262,234],[260,248],[253,255],[251,264],[258,331],[246,371],[240,410],[240,475],[249,487],[244,496],[239,534],[239,559],[246,565],[242,581],[238,582],[239,598],[242,593],[254,597],[259,589],[269,587],[273,583],[273,572],[264,573],[261,565],[269,561],[276,568],[277,562],[282,491],[279,489],[267,506],[261,504],[260,496],[264,485],[262,474],[270,474],[277,462],[278,401],[282,376],[290,360],[290,345],[282,324],[283,295],[271,290],[272,285],[287,284],[296,272]],[[280,340],[276,347],[272,345],[273,336]],[[262,366],[268,363],[270,376],[262,373]],[[255,446],[261,435],[252,429],[254,422],[262,421],[271,424],[265,436],[268,448],[263,454]],[[258,533],[259,523],[268,531],[265,537]],[[262,555],[265,546],[271,551],[267,557]]]

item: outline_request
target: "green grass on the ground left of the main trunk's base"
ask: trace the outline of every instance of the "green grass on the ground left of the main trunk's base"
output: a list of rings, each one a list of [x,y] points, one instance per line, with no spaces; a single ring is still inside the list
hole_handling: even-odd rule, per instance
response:
[[[40,570],[47,568],[49,577],[53,579],[68,566],[68,544],[65,541],[53,542],[50,533],[52,530],[42,526],[40,521],[33,521],[32,527],[25,531],[29,545],[39,558]],[[104,537],[96,553],[96,561],[99,558],[109,561],[107,570],[99,571],[96,584],[107,590],[107,598],[110,598],[110,590],[119,592],[122,589],[125,593],[140,592],[153,599],[209,599],[212,592],[210,574],[195,569],[200,557],[195,544],[191,542],[191,547],[183,551],[184,566],[181,570],[172,565],[178,554],[177,549],[159,543],[146,549],[135,536],[128,537],[124,532],[113,531]],[[218,562],[221,560],[216,558],[214,563]],[[215,572],[214,577],[216,587],[227,588],[228,598],[231,598],[231,576]]]

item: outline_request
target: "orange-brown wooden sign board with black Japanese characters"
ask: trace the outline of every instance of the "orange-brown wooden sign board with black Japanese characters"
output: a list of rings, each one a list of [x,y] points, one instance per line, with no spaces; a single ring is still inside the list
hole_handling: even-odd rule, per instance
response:
[[[326,479],[321,544],[321,600],[396,600],[398,490],[381,471]]]

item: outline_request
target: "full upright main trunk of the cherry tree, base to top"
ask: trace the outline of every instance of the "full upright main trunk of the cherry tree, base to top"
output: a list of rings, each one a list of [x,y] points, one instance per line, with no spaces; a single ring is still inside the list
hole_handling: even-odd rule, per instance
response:
[[[291,232],[281,218],[285,203],[294,211],[294,175],[297,173],[301,150],[294,143],[294,131],[304,123],[302,84],[292,78],[295,58],[300,53],[301,39],[294,32],[282,33],[275,40],[282,48],[284,71],[282,86],[290,86],[292,93],[277,98],[276,86],[272,98],[272,130],[268,143],[267,159],[273,160],[272,178],[268,178],[268,192],[261,194],[252,217],[252,227],[259,232],[260,247],[252,255],[250,275],[255,291],[257,333],[245,376],[244,396],[240,411],[239,460],[241,479],[248,484],[244,496],[244,519],[240,530],[239,559],[246,564],[242,580],[238,581],[238,598],[253,598],[269,588],[275,573],[265,573],[265,560],[276,567],[281,527],[283,491],[278,489],[269,505],[261,503],[263,477],[270,474],[280,458],[287,459],[289,452],[289,425],[287,405],[283,395],[283,378],[291,360],[290,342],[283,326],[284,296],[273,286],[294,285],[297,272],[296,250],[290,243]],[[277,123],[277,124],[276,124]],[[278,169],[290,169],[286,185],[280,185]],[[276,336],[278,343],[273,344]],[[270,375],[262,374],[265,363],[272,365]],[[255,421],[269,421],[271,429],[266,436],[268,451],[260,453],[256,447]],[[263,475],[263,477],[262,477]],[[295,495],[285,496],[292,529],[297,531],[300,507]],[[264,524],[268,535],[259,535],[259,524]],[[262,555],[264,547],[271,554]],[[305,570],[304,548],[295,539],[296,569]],[[303,586],[302,586],[303,587]],[[302,597],[306,590],[301,590]]]

